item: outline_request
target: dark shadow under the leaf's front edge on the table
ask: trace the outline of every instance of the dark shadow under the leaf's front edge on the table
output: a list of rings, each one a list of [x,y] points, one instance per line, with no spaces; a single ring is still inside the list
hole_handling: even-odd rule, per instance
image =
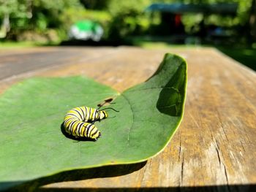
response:
[[[59,183],[67,181],[78,181],[78,180],[88,180],[93,178],[103,178],[103,177],[117,177],[124,174],[129,174],[146,165],[146,161],[138,164],[127,164],[127,165],[111,165],[111,166],[101,166],[91,169],[77,169],[67,172],[61,172],[58,174],[53,174],[49,177],[42,177],[37,180],[31,180],[28,182],[15,181],[15,182],[0,182],[0,191],[59,191],[60,188],[40,188],[42,185],[47,185],[50,183]],[[72,191],[72,188],[67,189],[67,191]],[[75,189],[74,189],[75,190]],[[65,191],[65,189],[64,189]]]

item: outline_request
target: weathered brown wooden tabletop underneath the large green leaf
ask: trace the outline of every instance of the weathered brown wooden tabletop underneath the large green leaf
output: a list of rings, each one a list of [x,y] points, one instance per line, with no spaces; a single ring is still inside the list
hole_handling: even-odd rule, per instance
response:
[[[0,92],[34,77],[86,75],[118,91],[143,82],[166,52],[188,62],[184,120],[145,164],[64,172],[30,185],[101,191],[251,191],[256,184],[256,73],[211,48],[44,47],[0,51]]]

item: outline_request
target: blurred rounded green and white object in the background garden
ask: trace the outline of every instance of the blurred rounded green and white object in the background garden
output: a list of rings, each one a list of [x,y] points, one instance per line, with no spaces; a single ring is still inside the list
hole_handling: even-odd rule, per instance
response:
[[[69,39],[99,42],[102,39],[103,32],[99,23],[93,20],[80,20],[69,29]]]

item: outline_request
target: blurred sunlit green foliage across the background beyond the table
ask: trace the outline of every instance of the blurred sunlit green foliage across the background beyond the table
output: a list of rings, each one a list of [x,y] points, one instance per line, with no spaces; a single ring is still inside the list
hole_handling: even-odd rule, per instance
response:
[[[238,3],[236,17],[210,15],[208,25],[246,26],[253,0],[0,0],[0,38],[31,41],[61,41],[75,21],[90,19],[102,24],[105,39],[122,39],[132,35],[154,33],[160,14],[145,12],[155,2]],[[182,17],[187,33],[198,30],[203,19],[200,14]]]

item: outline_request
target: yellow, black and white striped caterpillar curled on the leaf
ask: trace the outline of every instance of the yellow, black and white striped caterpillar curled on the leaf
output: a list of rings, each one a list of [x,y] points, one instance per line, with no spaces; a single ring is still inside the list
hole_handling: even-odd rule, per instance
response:
[[[108,118],[107,112],[91,107],[75,107],[67,112],[64,117],[64,128],[74,137],[87,137],[97,140],[100,132],[94,122]]]

